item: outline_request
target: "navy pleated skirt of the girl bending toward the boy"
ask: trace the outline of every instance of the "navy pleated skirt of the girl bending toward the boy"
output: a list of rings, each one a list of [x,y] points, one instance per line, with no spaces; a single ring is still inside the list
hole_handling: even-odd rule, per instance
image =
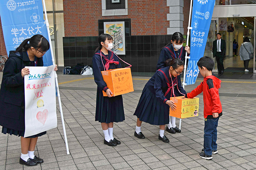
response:
[[[168,97],[166,96],[167,99]],[[170,106],[157,98],[146,85],[133,115],[151,125],[165,125],[169,123],[169,108]]]

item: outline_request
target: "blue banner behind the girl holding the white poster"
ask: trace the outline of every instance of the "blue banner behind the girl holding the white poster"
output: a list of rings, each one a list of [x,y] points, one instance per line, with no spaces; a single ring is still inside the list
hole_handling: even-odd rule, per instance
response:
[[[36,34],[43,35],[49,41],[42,0],[0,0],[0,15],[7,53]],[[43,56],[43,65],[52,64],[48,50]]]

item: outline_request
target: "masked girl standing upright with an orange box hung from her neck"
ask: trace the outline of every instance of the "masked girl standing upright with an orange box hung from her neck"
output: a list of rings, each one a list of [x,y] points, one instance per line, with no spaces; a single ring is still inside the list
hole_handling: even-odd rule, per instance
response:
[[[122,95],[112,96],[113,93],[103,80],[101,71],[121,68],[121,64],[114,52],[111,51],[113,47],[112,36],[101,34],[98,41],[99,47],[93,56],[93,74],[97,84],[95,121],[101,123],[105,136],[104,144],[116,146],[121,142],[113,137],[113,123],[124,120],[123,98]],[[107,93],[107,97],[103,96],[102,90]]]

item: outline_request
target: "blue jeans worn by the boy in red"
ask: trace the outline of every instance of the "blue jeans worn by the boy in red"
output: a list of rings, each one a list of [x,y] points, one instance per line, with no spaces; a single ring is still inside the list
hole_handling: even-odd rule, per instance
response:
[[[211,155],[212,150],[217,150],[217,126],[220,117],[214,119],[204,119],[204,153]]]

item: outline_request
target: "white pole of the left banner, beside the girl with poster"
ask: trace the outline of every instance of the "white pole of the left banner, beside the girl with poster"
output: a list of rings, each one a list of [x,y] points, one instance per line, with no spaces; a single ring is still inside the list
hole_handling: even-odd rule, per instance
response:
[[[48,32],[48,39],[49,39],[49,44],[50,44],[50,52],[51,52],[51,55],[52,55],[52,62],[53,62],[53,65],[55,65],[54,57],[53,57],[52,41],[51,41],[51,38],[50,38],[49,22],[48,22],[47,13],[46,13],[45,0],[42,0],[42,1],[43,1],[43,9],[45,10],[45,22],[46,22],[46,27],[47,27],[47,32]],[[63,127],[63,132],[64,132],[65,144],[66,144],[67,154],[69,155],[68,140],[67,140],[65,122],[64,122],[64,118],[63,118],[63,112],[62,112],[62,106],[61,106],[61,100],[60,100],[60,90],[59,90],[59,84],[58,84],[58,76],[57,76],[56,72],[55,72],[55,84],[56,84],[56,89],[57,89],[57,93],[58,93],[58,101],[59,101],[59,106],[60,106],[60,115],[61,115],[61,122],[62,122],[62,127]]]

